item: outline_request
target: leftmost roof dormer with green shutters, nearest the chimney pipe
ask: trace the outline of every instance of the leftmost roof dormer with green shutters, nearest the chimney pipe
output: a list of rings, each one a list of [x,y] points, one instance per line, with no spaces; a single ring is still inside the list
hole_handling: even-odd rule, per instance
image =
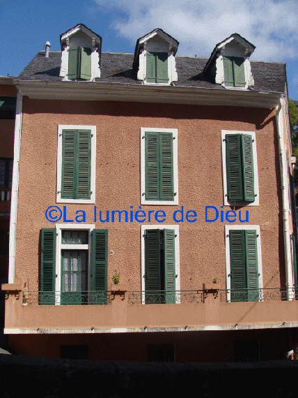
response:
[[[101,36],[78,24],[60,36],[63,80],[93,81],[100,78]]]

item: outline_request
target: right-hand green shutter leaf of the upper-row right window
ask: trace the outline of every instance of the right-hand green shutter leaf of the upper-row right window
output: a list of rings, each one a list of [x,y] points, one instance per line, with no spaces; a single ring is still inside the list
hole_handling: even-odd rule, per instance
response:
[[[241,134],[242,170],[243,170],[243,200],[255,201],[253,182],[253,144],[251,135]]]

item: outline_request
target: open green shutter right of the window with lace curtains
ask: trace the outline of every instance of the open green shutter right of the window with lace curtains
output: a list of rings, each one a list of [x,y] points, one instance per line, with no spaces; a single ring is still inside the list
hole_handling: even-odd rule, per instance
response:
[[[108,230],[92,232],[92,290],[94,304],[107,304]]]

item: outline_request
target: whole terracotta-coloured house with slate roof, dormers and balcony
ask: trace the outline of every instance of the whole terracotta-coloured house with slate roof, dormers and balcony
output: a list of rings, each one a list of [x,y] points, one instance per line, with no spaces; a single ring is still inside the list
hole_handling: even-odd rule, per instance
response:
[[[25,355],[282,359],[296,346],[285,64],[82,24],[18,78],[5,333]],[[294,162],[295,163],[295,162]],[[113,281],[119,281],[114,284]]]

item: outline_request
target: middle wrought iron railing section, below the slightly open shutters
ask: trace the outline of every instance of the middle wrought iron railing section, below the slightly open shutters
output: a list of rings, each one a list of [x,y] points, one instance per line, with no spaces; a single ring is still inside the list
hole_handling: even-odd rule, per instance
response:
[[[129,291],[127,304],[203,303],[204,290]]]

